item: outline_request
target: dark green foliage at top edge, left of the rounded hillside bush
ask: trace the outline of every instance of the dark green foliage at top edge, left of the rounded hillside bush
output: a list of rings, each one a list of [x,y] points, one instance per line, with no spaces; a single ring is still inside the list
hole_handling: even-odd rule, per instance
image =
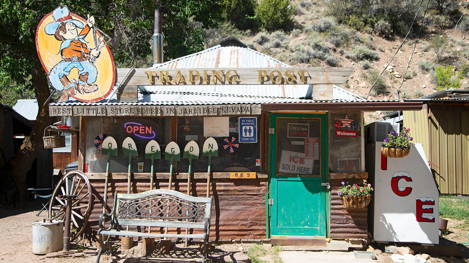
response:
[[[227,20],[241,30],[256,29],[256,0],[225,0]]]

